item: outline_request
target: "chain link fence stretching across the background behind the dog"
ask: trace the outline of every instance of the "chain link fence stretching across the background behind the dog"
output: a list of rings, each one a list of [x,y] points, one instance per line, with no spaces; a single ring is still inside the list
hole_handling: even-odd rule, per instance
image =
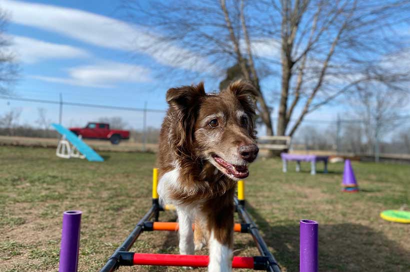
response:
[[[133,108],[73,103],[61,98],[53,101],[0,96],[0,99],[22,105],[0,113],[0,135],[56,138],[58,135],[50,129],[51,123],[82,127],[87,122],[107,122],[111,128],[129,130],[128,142],[139,144],[142,150],[155,150],[166,113],[164,109],[149,108],[147,103],[143,108]],[[41,110],[43,107],[47,110]],[[31,111],[34,109],[33,114],[38,115],[33,123],[21,123],[19,120],[20,114],[27,108]],[[277,120],[273,118],[272,121],[275,127]],[[392,126],[392,123],[397,125]],[[259,135],[263,135],[263,127],[259,126],[258,129]],[[334,120],[306,118],[292,137],[291,150],[366,155],[373,156],[376,161],[380,154],[410,155],[410,115],[376,124],[340,117]]]

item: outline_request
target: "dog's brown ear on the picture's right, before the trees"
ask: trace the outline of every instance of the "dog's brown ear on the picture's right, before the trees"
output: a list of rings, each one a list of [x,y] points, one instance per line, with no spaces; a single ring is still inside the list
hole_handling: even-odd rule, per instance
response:
[[[255,115],[255,97],[258,93],[252,84],[244,80],[236,80],[230,83],[224,91],[232,92],[236,99],[239,100],[243,110],[250,116]]]

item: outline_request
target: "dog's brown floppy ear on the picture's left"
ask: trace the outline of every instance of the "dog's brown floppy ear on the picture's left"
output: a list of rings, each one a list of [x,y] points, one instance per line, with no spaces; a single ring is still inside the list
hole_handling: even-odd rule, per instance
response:
[[[195,118],[202,98],[206,95],[203,82],[198,85],[182,86],[171,88],[166,92],[166,102],[170,111],[176,113],[177,124],[173,126],[172,145],[186,153],[184,148],[188,148],[193,142],[193,130]]]

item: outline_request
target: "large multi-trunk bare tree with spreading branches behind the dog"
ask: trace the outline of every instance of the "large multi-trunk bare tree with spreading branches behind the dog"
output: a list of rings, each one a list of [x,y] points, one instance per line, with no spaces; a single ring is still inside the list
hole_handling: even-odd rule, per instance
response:
[[[221,71],[238,65],[258,91],[267,135],[273,134],[270,101],[278,101],[276,134],[293,135],[308,113],[358,83],[407,80],[409,67],[387,69],[382,60],[409,46],[398,31],[410,16],[408,0],[134,0],[123,6],[148,29],[135,48],[162,52],[181,68],[172,71],[185,69],[185,78],[191,68],[221,79]],[[175,44],[184,49],[169,50]]]

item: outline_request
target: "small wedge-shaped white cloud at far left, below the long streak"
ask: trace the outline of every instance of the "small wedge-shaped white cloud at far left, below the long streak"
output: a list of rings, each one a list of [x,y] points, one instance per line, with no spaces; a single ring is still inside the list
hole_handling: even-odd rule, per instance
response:
[[[89,56],[80,48],[65,44],[45,42],[23,36],[10,36],[13,49],[20,61],[34,63],[44,59],[79,58]]]

